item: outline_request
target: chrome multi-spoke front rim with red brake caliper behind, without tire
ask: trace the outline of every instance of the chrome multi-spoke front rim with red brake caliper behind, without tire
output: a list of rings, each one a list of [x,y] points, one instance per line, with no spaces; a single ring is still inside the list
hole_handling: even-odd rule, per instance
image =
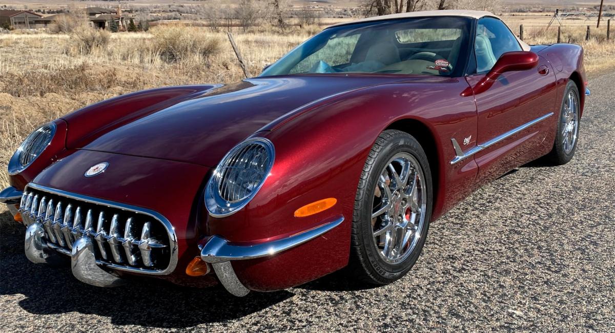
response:
[[[381,171],[371,212],[378,254],[389,264],[404,261],[421,238],[426,215],[424,174],[411,154],[394,155]]]

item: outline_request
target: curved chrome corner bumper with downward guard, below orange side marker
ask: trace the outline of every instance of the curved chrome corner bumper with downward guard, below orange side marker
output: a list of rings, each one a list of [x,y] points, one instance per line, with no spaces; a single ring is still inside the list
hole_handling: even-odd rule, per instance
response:
[[[313,229],[295,233],[279,240],[268,241],[256,245],[232,245],[222,237],[212,236],[200,251],[200,259],[212,264],[213,270],[220,283],[234,296],[245,296],[250,289],[245,288],[239,281],[232,268],[231,261],[256,259],[273,256],[312,240],[344,222],[344,217],[336,217],[333,221],[325,222]]]

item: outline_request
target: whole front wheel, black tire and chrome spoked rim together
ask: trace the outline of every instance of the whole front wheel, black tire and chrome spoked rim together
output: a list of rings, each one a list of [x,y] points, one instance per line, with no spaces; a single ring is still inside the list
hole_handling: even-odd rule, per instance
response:
[[[404,276],[421,254],[432,210],[432,178],[413,136],[386,130],[365,162],[355,197],[351,272],[371,284]]]

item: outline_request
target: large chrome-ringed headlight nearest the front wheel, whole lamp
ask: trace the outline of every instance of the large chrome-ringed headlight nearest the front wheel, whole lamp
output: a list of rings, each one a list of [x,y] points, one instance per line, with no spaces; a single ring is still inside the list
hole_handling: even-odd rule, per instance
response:
[[[263,186],[273,167],[275,149],[265,138],[240,143],[224,156],[205,187],[205,206],[224,217],[244,208]]]

